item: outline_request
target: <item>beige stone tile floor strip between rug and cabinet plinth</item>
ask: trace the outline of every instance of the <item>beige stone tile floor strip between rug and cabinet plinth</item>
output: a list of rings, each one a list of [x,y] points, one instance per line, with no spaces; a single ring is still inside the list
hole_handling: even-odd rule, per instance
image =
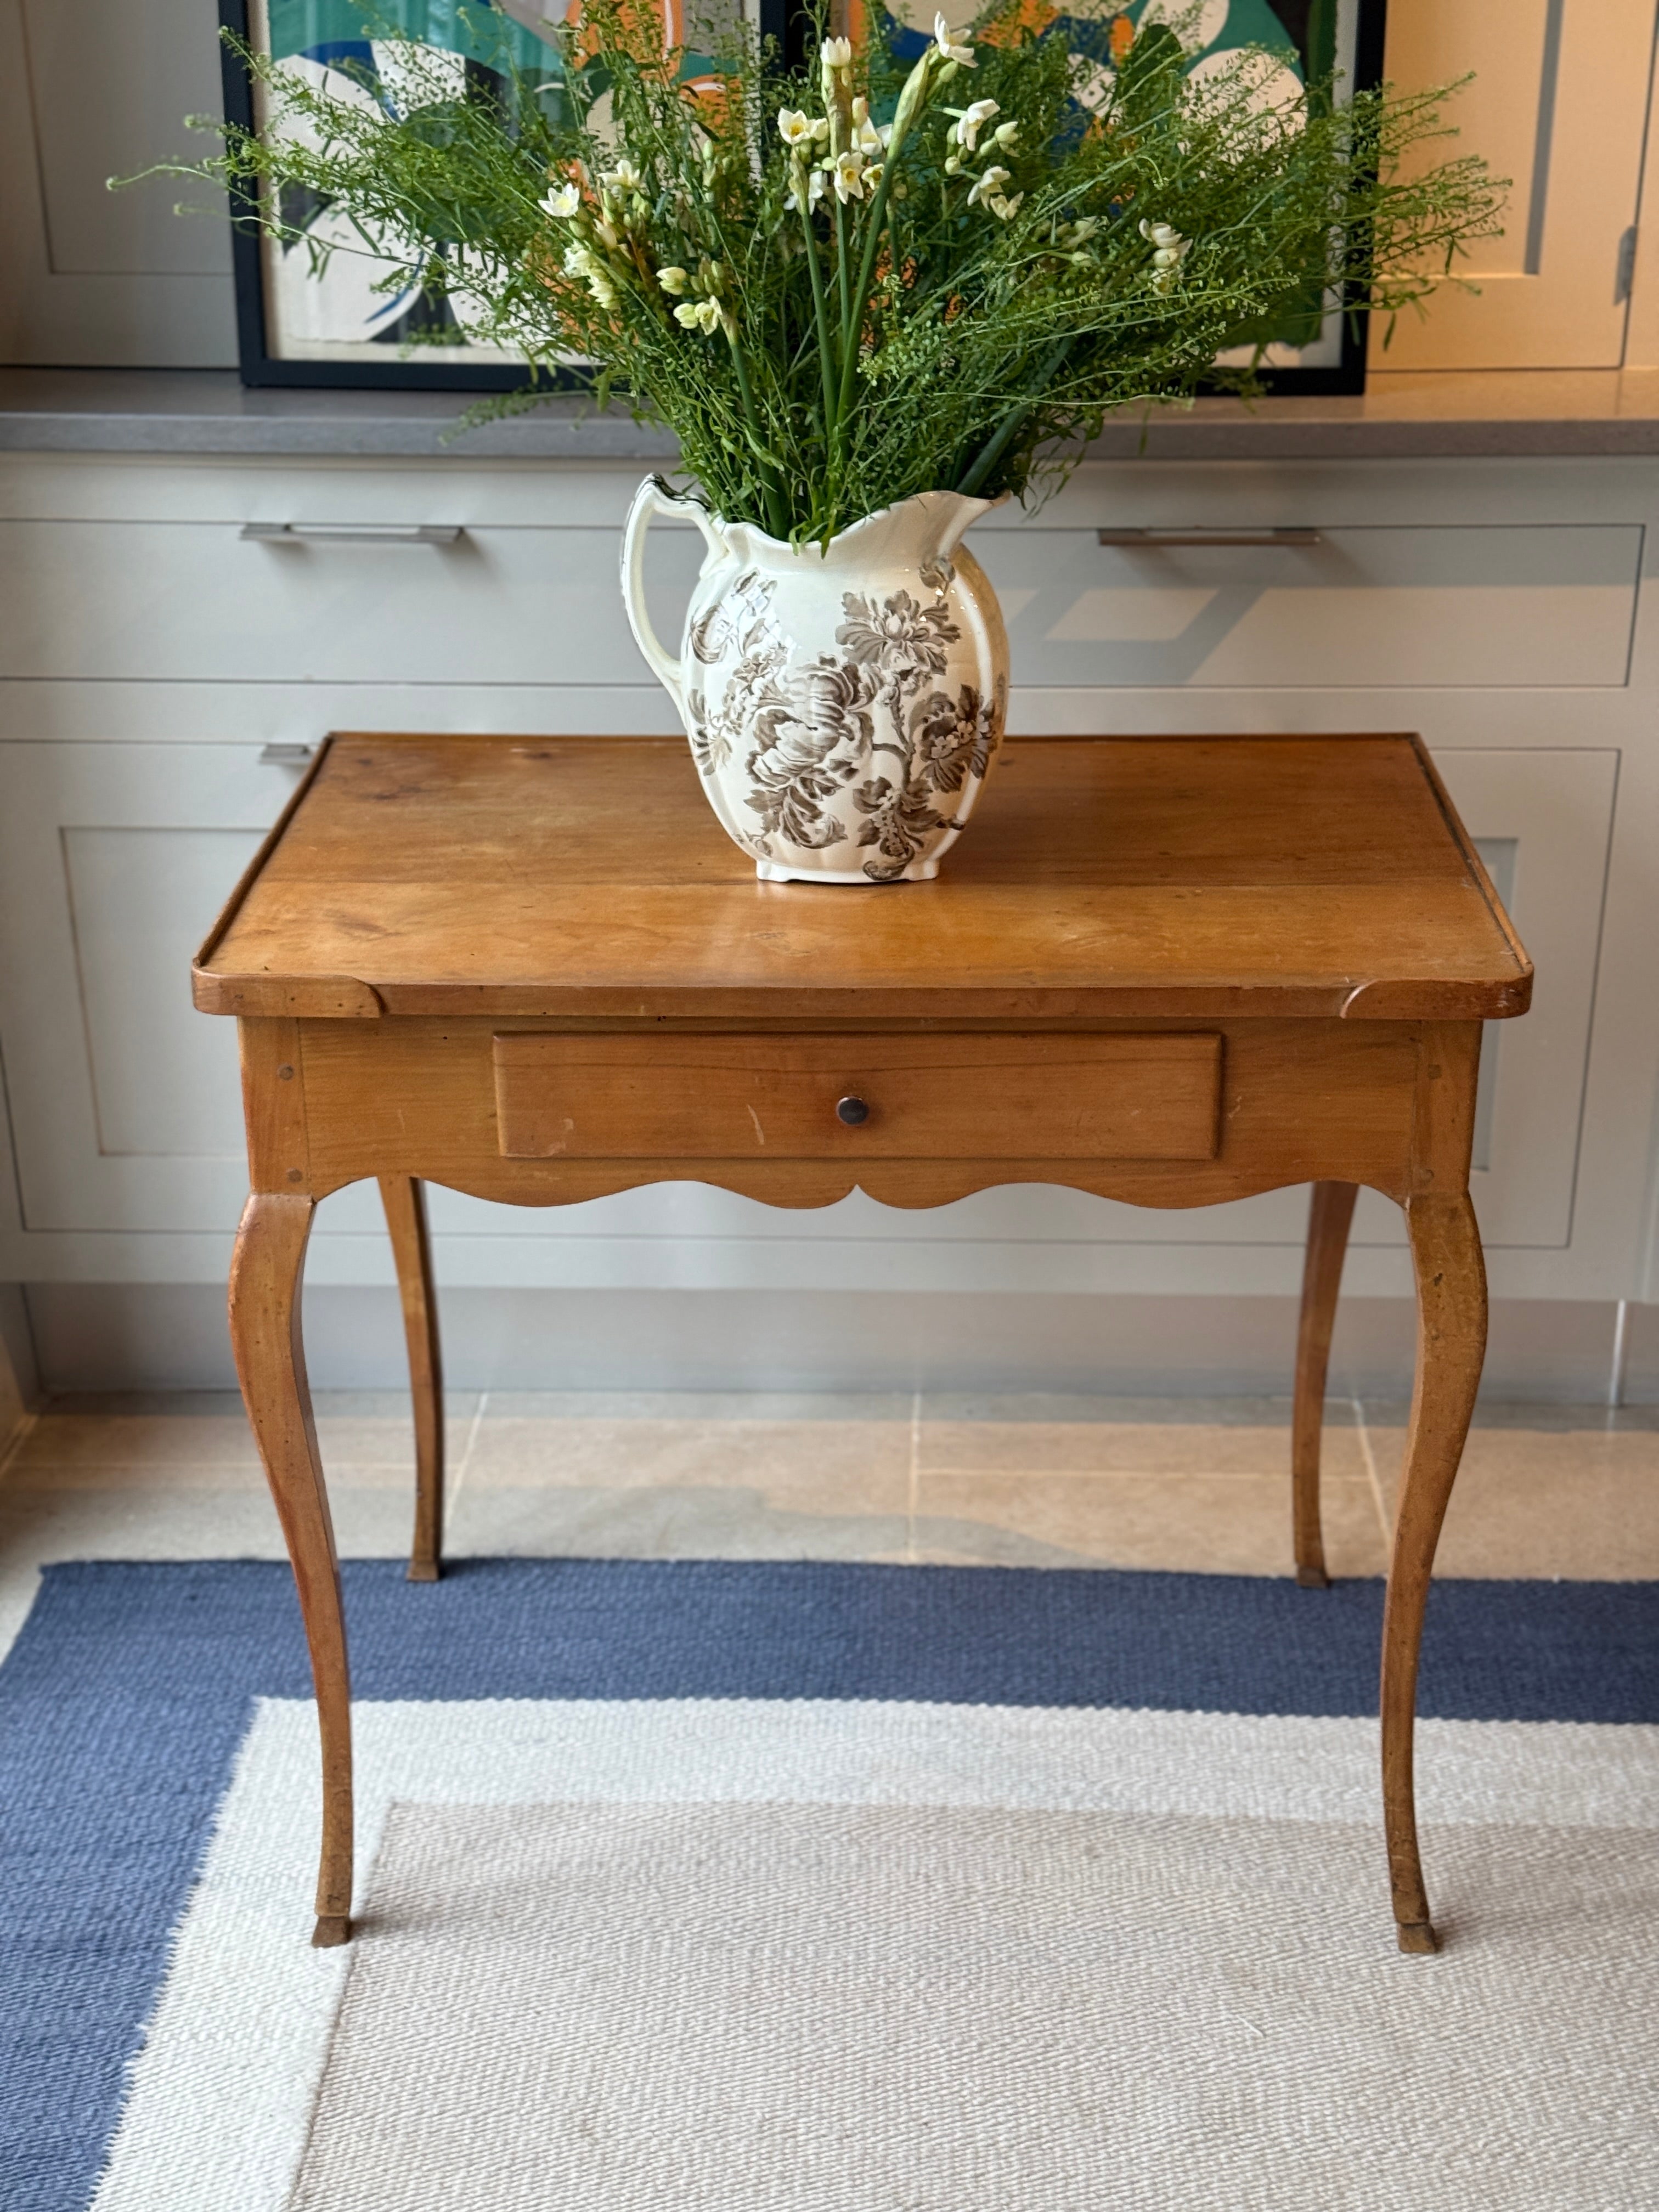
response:
[[[1329,1400],[1336,1575],[1383,1573],[1394,1405]],[[341,1551],[409,1535],[398,1396],[319,1396]],[[449,1400],[451,1553],[883,1559],[1285,1575],[1285,1400],[467,1396]],[[46,1559],[281,1557],[234,1398],[58,1400],[0,1471],[0,1637]],[[1482,1411],[1451,1575],[1659,1577],[1659,1409]]]

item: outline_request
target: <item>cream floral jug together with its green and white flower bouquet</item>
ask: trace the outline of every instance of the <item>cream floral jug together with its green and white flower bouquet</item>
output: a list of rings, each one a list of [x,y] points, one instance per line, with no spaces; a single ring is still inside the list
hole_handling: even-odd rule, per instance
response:
[[[374,86],[248,53],[263,128],[192,175],[305,250],[334,204],[387,290],[666,422],[697,489],[641,487],[624,584],[719,818],[765,876],[931,876],[1006,701],[967,526],[1310,292],[1396,314],[1495,228],[1478,159],[1425,159],[1433,95],[1292,97],[1261,51],[1194,77],[1179,29],[1106,11],[1091,58],[991,0],[909,66],[825,35],[790,71],[586,0],[560,66],[487,91],[396,38]],[[708,538],[681,657],[639,595],[661,507]]]

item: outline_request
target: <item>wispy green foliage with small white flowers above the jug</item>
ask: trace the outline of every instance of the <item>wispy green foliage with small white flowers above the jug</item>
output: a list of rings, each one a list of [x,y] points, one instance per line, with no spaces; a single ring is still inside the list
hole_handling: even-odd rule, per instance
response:
[[[1261,55],[1194,84],[1166,27],[1099,91],[1022,13],[991,0],[909,71],[827,46],[790,75],[717,31],[664,58],[630,0],[588,0],[542,77],[502,49],[487,91],[409,42],[374,88],[248,55],[263,128],[186,173],[314,252],[283,208],[345,210],[387,288],[597,363],[719,513],[796,540],[927,489],[1031,495],[1106,411],[1188,396],[1321,292],[1413,305],[1495,230],[1484,164],[1425,159],[1440,95],[1261,113]]]

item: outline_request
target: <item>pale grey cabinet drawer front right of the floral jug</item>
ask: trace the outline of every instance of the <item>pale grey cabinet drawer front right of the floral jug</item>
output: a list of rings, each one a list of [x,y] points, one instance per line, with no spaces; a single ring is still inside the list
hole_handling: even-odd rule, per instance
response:
[[[1641,529],[1325,529],[1318,544],[1104,546],[980,531],[1020,686],[1624,684]]]

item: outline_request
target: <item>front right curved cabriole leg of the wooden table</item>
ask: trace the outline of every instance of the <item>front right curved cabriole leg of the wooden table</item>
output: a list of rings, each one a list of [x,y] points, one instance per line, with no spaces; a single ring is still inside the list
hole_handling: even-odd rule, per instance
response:
[[[1486,1356],[1486,1263],[1469,1192],[1405,1206],[1418,1276],[1418,1376],[1383,1608],[1383,1820],[1402,1951],[1438,1951],[1418,1858],[1411,1728],[1429,1575]]]

